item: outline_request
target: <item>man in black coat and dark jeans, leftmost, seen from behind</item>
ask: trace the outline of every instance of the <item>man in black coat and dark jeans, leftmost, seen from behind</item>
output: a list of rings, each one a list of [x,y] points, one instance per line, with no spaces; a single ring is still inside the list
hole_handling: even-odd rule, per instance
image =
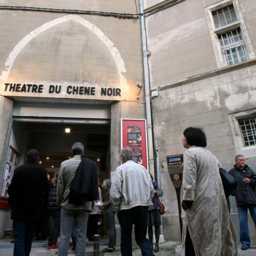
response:
[[[29,150],[27,163],[15,169],[8,187],[14,230],[14,256],[29,255],[36,220],[42,217],[47,207],[47,172],[38,164],[38,160],[38,151]]]

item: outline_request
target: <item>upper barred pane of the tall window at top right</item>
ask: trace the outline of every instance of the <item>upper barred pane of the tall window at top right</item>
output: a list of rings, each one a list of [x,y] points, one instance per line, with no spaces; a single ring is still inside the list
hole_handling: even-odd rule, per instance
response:
[[[217,29],[233,22],[237,22],[237,15],[234,11],[233,5],[213,11],[212,17],[214,18],[215,28]]]

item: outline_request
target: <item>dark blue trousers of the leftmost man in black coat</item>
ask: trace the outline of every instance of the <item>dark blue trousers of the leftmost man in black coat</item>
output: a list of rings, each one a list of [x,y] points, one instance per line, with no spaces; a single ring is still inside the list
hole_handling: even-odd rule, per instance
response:
[[[13,220],[14,250],[13,256],[29,256],[35,233],[36,221]]]

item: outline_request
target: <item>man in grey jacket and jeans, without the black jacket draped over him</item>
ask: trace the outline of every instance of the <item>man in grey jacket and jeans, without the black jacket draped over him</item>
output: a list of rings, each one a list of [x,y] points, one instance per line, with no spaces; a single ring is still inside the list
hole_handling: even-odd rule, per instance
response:
[[[63,161],[60,165],[57,182],[57,205],[60,207],[60,243],[58,255],[68,255],[71,231],[74,219],[76,220],[76,256],[86,254],[86,230],[89,213],[92,210],[91,202],[83,205],[70,204],[70,185],[74,179],[76,170],[81,162],[84,147],[80,142],[72,146],[73,158]],[[95,163],[96,164],[96,163]]]

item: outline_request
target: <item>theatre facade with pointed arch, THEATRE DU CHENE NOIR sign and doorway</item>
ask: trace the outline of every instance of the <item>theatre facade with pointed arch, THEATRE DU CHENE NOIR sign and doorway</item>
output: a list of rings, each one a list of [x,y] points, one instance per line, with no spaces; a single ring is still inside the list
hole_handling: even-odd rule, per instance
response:
[[[10,148],[19,165],[30,147],[67,156],[72,143],[81,141],[87,156],[104,158],[102,179],[111,177],[120,164],[120,120],[145,119],[144,93],[138,95],[136,86],[143,83],[137,5],[133,0],[1,1],[2,189]],[[57,132],[61,124],[75,125],[76,134],[63,137]],[[1,195],[3,237],[11,224],[4,190]]]

